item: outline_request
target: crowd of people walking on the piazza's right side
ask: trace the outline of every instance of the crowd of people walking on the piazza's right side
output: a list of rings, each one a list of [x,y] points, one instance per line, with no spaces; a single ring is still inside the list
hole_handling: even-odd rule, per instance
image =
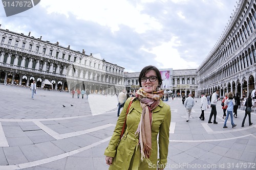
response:
[[[236,93],[236,95],[233,95],[232,92],[226,92],[225,96],[222,100],[222,109],[223,109],[223,116],[222,118],[224,119],[224,126],[223,128],[227,128],[227,120],[230,116],[231,119],[231,126],[232,128],[236,127],[237,125],[234,124],[233,122],[233,117],[237,118],[238,114],[238,108],[241,107],[241,103],[243,103],[243,105],[245,106],[245,115],[243,118],[243,122],[242,122],[242,127],[244,127],[245,124],[245,119],[248,115],[248,119],[249,119],[249,126],[251,126],[253,123],[251,122],[251,107],[253,106],[253,104],[256,102],[255,99],[255,88],[253,88],[252,92],[248,93],[247,98],[245,97],[245,95],[243,95],[242,98],[240,98],[239,93]],[[218,124],[218,122],[216,121],[216,117],[217,117],[217,102],[220,101],[219,98],[219,89],[215,90],[214,93],[212,93],[211,95],[206,95],[205,93],[202,93],[201,96],[201,115],[199,116],[199,118],[201,120],[205,119],[204,116],[204,111],[207,109],[211,109],[210,115],[209,115],[209,119],[208,119],[208,124],[212,124],[211,119],[212,116],[214,116],[214,124]],[[182,97],[182,104],[185,106],[187,113],[186,113],[186,122],[189,121],[189,117],[190,117],[190,113],[191,113],[191,109],[193,108],[193,106],[195,105],[195,101],[194,98],[191,97],[191,93],[188,94],[188,97],[185,98],[184,95]]]

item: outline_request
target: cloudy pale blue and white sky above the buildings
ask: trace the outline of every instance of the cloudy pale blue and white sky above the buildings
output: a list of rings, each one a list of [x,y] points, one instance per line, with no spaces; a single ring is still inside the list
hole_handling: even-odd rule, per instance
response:
[[[239,0],[236,0],[239,2]],[[197,68],[236,10],[235,0],[41,0],[6,17],[1,29],[24,33],[139,72]]]

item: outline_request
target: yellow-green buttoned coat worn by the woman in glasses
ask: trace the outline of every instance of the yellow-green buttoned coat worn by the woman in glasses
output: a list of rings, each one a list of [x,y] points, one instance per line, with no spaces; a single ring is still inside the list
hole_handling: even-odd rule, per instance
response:
[[[135,132],[141,118],[142,108],[139,100],[133,102],[129,109],[126,119],[126,130],[117,147],[122,127],[124,124],[126,109],[131,101],[127,99],[124,104],[123,110],[117,120],[116,128],[110,140],[108,148],[106,148],[104,155],[113,158],[113,163],[109,169],[157,169],[164,168],[167,163],[168,144],[169,144],[169,127],[170,127],[170,107],[160,100],[159,106],[153,110],[153,123],[152,123],[152,151],[150,161],[148,164],[145,159],[141,162],[140,146],[138,145],[138,136],[135,137]],[[159,134],[159,156],[157,154],[158,144],[157,135]],[[117,148],[117,150],[116,150]],[[157,159],[159,157],[159,159]],[[158,161],[158,162],[157,162]]]

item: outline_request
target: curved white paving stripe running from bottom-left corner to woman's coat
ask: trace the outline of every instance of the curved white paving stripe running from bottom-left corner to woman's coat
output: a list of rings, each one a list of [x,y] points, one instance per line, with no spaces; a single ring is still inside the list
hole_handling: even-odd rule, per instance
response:
[[[33,167],[33,166],[42,165],[42,164],[45,164],[45,163],[50,163],[50,162],[53,162],[53,161],[56,161],[56,160],[59,160],[59,159],[62,159],[62,158],[66,158],[68,156],[75,155],[75,154],[80,153],[82,151],[86,151],[88,149],[91,149],[91,148],[96,147],[97,145],[99,145],[101,143],[104,143],[105,141],[108,141],[110,139],[111,139],[111,137],[108,137],[108,138],[102,139],[100,141],[97,141],[95,143],[92,143],[90,145],[87,145],[86,147],[82,147],[82,148],[79,148],[77,150],[70,151],[70,152],[67,152],[67,153],[63,153],[63,154],[60,154],[60,155],[56,155],[56,156],[46,158],[46,159],[41,159],[41,160],[32,161],[32,162],[28,162],[28,163],[20,163],[20,164],[16,164],[16,165],[0,166],[0,170],[23,169],[23,168],[29,168],[29,167]]]

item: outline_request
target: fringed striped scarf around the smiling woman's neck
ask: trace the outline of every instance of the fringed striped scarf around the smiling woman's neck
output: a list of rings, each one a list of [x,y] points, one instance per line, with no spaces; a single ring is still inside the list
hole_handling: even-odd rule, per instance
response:
[[[151,155],[151,145],[152,145],[152,136],[151,136],[151,125],[153,122],[152,110],[154,110],[160,103],[160,100],[163,96],[163,90],[155,91],[152,93],[147,93],[140,88],[136,92],[136,97],[140,101],[140,106],[142,108],[140,123],[138,126],[135,135],[139,134],[139,143],[140,144],[140,152],[141,152],[141,161],[143,158],[146,159],[147,163],[150,163],[150,155]]]

